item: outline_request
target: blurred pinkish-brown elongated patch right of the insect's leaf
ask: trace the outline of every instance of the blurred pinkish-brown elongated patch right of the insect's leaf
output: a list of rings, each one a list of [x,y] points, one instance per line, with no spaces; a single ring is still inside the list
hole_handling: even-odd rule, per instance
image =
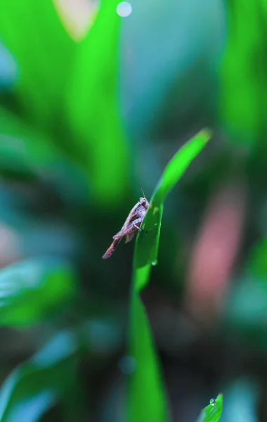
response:
[[[245,183],[221,186],[208,205],[193,244],[185,286],[185,309],[207,324],[219,312],[242,238]]]

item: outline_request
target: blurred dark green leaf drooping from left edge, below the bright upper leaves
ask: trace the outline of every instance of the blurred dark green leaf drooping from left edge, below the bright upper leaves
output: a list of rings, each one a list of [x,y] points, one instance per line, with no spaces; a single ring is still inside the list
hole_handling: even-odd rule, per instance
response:
[[[41,179],[64,198],[86,200],[88,186],[81,169],[51,137],[0,108],[0,174],[7,179]]]

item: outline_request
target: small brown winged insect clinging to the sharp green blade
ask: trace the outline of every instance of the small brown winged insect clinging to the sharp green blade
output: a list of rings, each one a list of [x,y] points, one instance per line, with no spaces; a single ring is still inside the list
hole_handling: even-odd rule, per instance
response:
[[[122,229],[117,234],[115,234],[115,236],[113,236],[114,241],[111,243],[110,248],[108,248],[108,250],[103,255],[103,260],[107,260],[111,257],[111,255],[115,252],[117,245],[119,245],[119,242],[124,236],[126,236],[125,243],[128,243],[132,240],[138,230],[144,231],[140,228],[140,226],[143,222],[146,212],[148,211],[149,202],[145,198],[144,193],[143,196],[144,198],[140,198],[138,203],[134,205],[134,207],[129,212],[129,215],[126,218]]]

